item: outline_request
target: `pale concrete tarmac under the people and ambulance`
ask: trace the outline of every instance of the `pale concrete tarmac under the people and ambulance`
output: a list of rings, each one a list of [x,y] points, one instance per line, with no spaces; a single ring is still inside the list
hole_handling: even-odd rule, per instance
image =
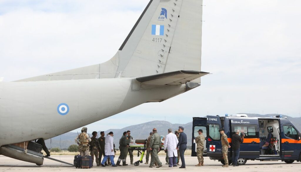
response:
[[[74,156],[70,155],[53,155],[52,158],[56,158],[62,161],[66,161],[73,164]],[[250,161],[248,160],[245,165],[239,167],[229,166],[228,168],[223,168],[222,163],[219,161],[210,160],[208,157],[204,157],[205,166],[196,167],[197,157],[191,157],[189,155],[185,156],[186,168],[181,169],[178,167],[168,167],[165,165],[165,156],[159,156],[160,161],[163,166],[160,168],[149,168],[149,164],[140,164],[139,166],[128,165],[122,167],[97,167],[94,162],[94,167],[90,169],[76,169],[67,164],[62,164],[56,161],[52,161],[44,158],[44,164],[42,166],[37,166],[36,164],[15,160],[12,158],[5,157],[0,155],[0,171],[2,172],[11,172],[11,171],[116,171],[116,172],[139,172],[139,171],[152,171],[152,170],[169,170],[173,171],[266,171],[266,172],[275,172],[275,171],[301,171],[301,163],[294,161],[292,164],[286,164],[281,161]],[[134,161],[138,161],[138,157],[134,156]],[[117,157],[114,159],[117,161]],[[129,161],[129,157],[128,157]],[[180,161],[181,162],[181,161]],[[180,163],[181,164],[181,163]]]

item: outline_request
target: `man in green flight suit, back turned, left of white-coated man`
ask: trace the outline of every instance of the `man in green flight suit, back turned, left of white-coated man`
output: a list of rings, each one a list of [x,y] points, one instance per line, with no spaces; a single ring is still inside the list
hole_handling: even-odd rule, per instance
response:
[[[151,137],[151,142],[149,144],[149,150],[151,151],[151,163],[150,163],[150,168],[153,167],[154,163],[157,162],[158,166],[157,168],[159,167],[162,167],[162,163],[161,161],[159,160],[159,157],[158,157],[158,152],[160,150],[160,141],[161,141],[161,137],[160,135],[157,133],[157,129],[154,128],[153,129],[153,135]]]

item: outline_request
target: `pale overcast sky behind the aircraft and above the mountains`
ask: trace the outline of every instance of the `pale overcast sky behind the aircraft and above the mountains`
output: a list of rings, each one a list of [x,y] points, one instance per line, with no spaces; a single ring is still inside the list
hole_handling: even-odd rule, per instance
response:
[[[0,0],[4,81],[102,63],[116,53],[149,0]],[[301,112],[301,1],[204,0],[202,85],[88,125]]]

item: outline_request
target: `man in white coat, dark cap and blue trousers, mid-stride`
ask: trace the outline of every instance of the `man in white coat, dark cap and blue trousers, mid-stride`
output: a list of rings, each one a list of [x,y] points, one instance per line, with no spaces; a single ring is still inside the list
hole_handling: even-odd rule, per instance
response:
[[[115,152],[114,152],[113,140],[114,140],[113,139],[113,132],[111,131],[109,133],[109,135],[106,137],[106,140],[105,140],[105,145],[104,145],[105,156],[104,156],[104,159],[101,161],[101,164],[100,164],[102,167],[105,167],[104,163],[107,161],[108,158],[110,158],[110,160],[111,160],[112,167],[117,167],[117,165],[114,163]]]

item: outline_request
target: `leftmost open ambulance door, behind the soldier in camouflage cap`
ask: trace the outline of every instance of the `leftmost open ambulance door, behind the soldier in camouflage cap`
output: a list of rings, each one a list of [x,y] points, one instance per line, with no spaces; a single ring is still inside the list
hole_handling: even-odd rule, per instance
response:
[[[203,130],[203,136],[205,137],[205,142],[204,142],[204,151],[203,151],[203,156],[206,156],[206,139],[207,139],[207,118],[199,118],[199,117],[194,117],[192,121],[192,151],[191,151],[191,156],[197,156],[197,144],[195,143],[195,138],[199,135],[198,131],[199,129]]]

